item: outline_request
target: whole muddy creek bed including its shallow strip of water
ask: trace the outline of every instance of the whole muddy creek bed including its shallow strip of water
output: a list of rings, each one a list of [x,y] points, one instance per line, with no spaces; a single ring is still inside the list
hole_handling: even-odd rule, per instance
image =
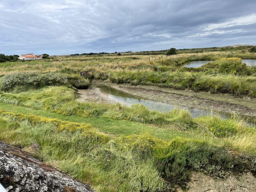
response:
[[[150,110],[165,113],[174,107],[181,107],[189,110],[193,117],[208,115],[212,111],[219,112],[223,118],[226,118],[230,112],[238,112],[253,122],[256,117],[255,108],[127,84],[116,85],[105,82],[104,85],[97,82],[87,90],[79,90],[79,93],[80,102],[109,104],[119,102],[127,106],[138,103],[147,106]]]

